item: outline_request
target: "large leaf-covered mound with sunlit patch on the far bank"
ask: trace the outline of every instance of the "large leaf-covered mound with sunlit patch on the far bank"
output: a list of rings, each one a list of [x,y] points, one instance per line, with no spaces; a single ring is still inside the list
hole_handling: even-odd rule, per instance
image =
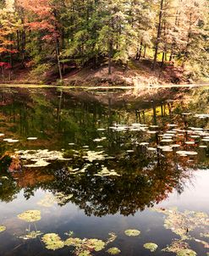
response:
[[[108,74],[107,64],[94,70],[86,67],[76,70],[63,76],[64,84],[74,86],[157,86],[169,83],[179,84],[185,81],[183,72],[180,68],[172,64],[166,64],[163,68],[151,70],[151,61],[142,59],[140,62],[132,59],[129,61],[128,68],[113,65],[112,75]]]

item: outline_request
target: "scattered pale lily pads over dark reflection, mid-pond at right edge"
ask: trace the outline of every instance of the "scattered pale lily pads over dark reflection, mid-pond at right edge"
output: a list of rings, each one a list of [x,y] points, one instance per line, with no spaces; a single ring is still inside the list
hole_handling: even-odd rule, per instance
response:
[[[148,151],[161,153],[176,153],[180,157],[192,157],[198,154],[196,147],[207,148],[209,145],[209,131],[200,127],[188,127],[185,129],[177,128],[175,124],[168,124],[166,131],[162,132],[162,127],[158,125],[142,125],[134,123],[132,125],[118,125],[109,127],[113,131],[127,132],[138,131],[149,136],[155,135],[152,142],[138,142],[135,145],[146,147]],[[153,140],[156,141],[153,143]],[[182,148],[182,149],[179,149]],[[134,150],[127,150],[128,153]]]

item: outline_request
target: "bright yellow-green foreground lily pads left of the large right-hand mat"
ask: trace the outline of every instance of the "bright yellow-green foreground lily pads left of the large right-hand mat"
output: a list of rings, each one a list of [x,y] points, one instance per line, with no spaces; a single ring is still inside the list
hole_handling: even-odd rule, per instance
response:
[[[19,220],[24,220],[28,223],[35,223],[38,220],[41,220],[41,211],[39,210],[27,210],[21,214],[18,214],[17,216]],[[36,226],[36,225],[35,225]],[[6,231],[6,226],[1,225],[0,226],[0,232]],[[109,233],[107,241],[103,241],[101,239],[96,238],[79,238],[74,237],[74,232],[69,231],[68,233],[65,233],[68,238],[63,240],[61,237],[59,237],[56,233],[47,233],[43,234],[41,231],[28,231],[25,235],[19,236],[19,239],[23,240],[30,240],[30,239],[36,239],[37,237],[41,237],[41,241],[45,244],[45,247],[48,250],[58,250],[63,247],[73,247],[74,248],[74,255],[78,256],[85,256],[85,255],[92,255],[93,252],[99,252],[103,249],[107,248],[107,246],[114,242],[117,238],[117,235],[115,233]],[[124,231],[124,234],[128,237],[138,237],[140,236],[140,231],[138,230],[126,230]],[[108,246],[109,247],[109,246]],[[151,252],[154,252],[157,249],[157,244],[155,243],[146,243],[144,245],[144,248],[150,250]],[[116,255],[121,253],[121,250],[116,247],[107,248],[107,253],[111,255]]]

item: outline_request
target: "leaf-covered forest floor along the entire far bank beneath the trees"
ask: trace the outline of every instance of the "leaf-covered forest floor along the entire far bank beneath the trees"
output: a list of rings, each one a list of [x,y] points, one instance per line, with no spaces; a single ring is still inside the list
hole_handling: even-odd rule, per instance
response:
[[[46,72],[43,76],[32,76],[30,68],[24,69],[17,66],[11,75],[11,80],[3,80],[0,83],[9,84],[58,84],[58,75]],[[175,67],[173,63],[165,63],[163,68],[158,64],[155,71],[151,70],[151,60],[142,58],[139,61],[132,59],[129,61],[128,68],[123,65],[113,64],[112,75],[108,75],[106,63],[101,64],[96,69],[91,65],[75,69],[65,67],[63,75],[63,85],[66,86],[157,86],[168,84],[191,83],[186,80],[183,70]],[[7,77],[5,75],[5,77]]]

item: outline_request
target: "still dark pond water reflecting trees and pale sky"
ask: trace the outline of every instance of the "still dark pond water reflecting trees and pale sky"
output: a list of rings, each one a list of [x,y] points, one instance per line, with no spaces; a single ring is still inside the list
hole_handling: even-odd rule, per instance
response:
[[[173,239],[209,253],[201,236],[209,232],[208,90],[175,101],[127,102],[123,93],[0,90],[0,255],[110,255],[115,247],[118,255],[195,255],[162,251]],[[27,210],[39,210],[41,220],[20,220]],[[205,213],[201,227],[173,219],[164,226],[169,213],[184,210]],[[140,236],[126,236],[129,229]],[[43,234],[21,238],[30,231]],[[117,237],[100,251],[84,242],[51,250],[42,241],[56,233],[64,242],[69,231]]]

